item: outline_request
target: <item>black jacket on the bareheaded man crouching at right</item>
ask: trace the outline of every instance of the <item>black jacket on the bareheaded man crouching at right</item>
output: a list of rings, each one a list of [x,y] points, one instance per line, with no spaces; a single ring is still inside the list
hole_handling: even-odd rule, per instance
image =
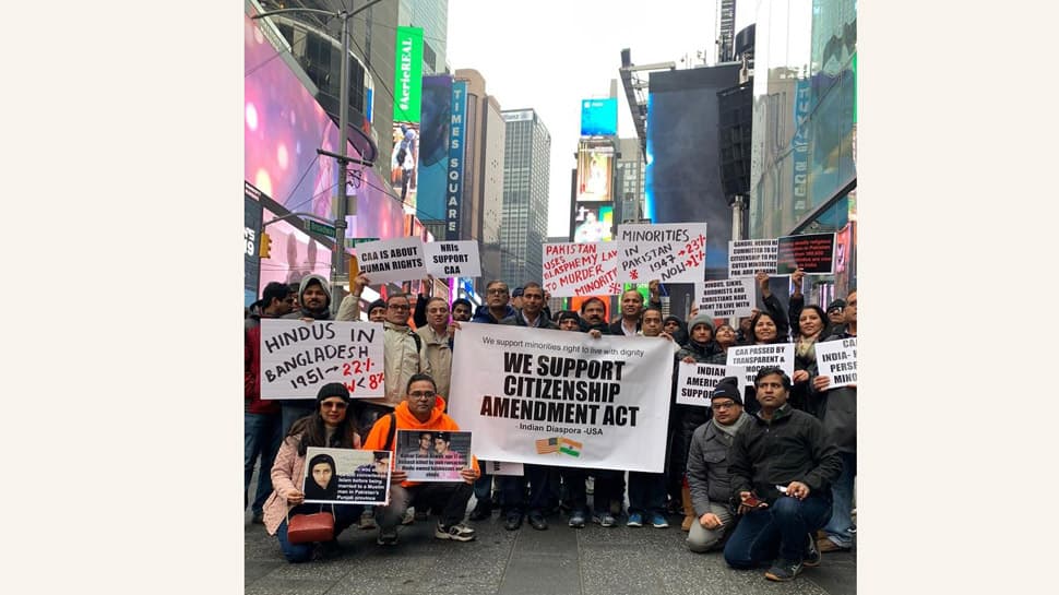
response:
[[[831,484],[842,473],[838,450],[816,417],[785,404],[772,421],[752,416],[739,429],[728,451],[728,474],[734,503],[740,491],[775,502],[783,496],[776,486],[790,481],[809,486],[811,496],[831,501]]]

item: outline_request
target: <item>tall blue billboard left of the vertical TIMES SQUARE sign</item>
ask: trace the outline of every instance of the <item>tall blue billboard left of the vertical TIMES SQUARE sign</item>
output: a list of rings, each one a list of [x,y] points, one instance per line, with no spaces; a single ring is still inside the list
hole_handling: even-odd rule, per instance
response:
[[[449,121],[452,76],[423,78],[423,120],[419,164],[416,167],[416,216],[433,222],[445,218],[445,178],[449,174]]]

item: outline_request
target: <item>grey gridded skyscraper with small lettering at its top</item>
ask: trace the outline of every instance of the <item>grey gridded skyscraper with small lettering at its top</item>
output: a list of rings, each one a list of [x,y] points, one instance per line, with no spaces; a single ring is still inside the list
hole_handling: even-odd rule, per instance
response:
[[[548,231],[551,134],[531,109],[501,111],[504,120],[501,278],[516,287],[540,281]]]

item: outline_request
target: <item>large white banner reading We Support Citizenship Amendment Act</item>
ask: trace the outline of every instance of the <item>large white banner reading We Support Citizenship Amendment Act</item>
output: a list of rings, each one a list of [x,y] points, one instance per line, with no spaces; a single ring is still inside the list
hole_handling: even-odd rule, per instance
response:
[[[450,415],[488,461],[662,473],[673,344],[463,323]]]

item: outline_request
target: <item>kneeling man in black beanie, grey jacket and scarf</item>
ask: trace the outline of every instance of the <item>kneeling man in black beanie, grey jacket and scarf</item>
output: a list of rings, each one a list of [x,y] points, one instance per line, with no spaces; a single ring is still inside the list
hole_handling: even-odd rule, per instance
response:
[[[727,377],[713,390],[713,417],[695,429],[688,451],[688,486],[695,522],[688,533],[688,549],[702,554],[717,547],[735,524],[729,501],[728,447],[750,416],[742,410],[739,380]]]

